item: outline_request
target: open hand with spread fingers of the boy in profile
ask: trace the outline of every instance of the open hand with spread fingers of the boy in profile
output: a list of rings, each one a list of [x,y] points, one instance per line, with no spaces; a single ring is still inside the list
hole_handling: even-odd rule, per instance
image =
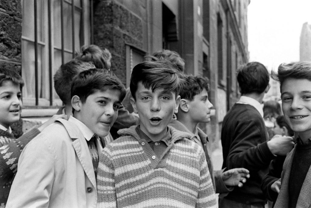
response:
[[[221,178],[227,186],[242,187],[246,178],[249,178],[249,171],[245,168],[234,168],[223,172]]]

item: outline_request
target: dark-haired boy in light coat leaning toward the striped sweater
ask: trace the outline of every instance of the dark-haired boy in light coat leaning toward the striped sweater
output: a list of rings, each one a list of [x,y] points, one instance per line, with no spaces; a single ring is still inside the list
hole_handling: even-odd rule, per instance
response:
[[[125,96],[110,71],[82,71],[72,81],[73,116],[59,119],[25,147],[7,207],[96,207],[98,153]],[[40,141],[39,141],[40,140]]]

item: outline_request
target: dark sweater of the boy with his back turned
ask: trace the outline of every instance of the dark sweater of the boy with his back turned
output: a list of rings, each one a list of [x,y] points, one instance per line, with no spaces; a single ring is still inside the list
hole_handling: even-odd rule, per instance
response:
[[[234,188],[225,198],[244,204],[262,204],[266,197],[261,181],[275,158],[267,145],[267,129],[260,113],[251,105],[234,104],[221,129],[223,168],[246,168],[250,178],[242,188]]]

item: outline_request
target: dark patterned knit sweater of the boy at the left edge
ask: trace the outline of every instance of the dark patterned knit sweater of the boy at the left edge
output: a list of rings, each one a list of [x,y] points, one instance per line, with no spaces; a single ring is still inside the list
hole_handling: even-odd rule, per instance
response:
[[[0,207],[5,207],[16,174],[18,158],[26,144],[37,136],[36,128],[15,139],[12,133],[0,129]]]

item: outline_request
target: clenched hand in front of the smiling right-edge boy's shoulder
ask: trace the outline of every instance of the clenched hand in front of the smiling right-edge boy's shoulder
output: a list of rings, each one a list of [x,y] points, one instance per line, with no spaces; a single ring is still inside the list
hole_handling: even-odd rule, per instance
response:
[[[272,154],[286,155],[293,149],[294,140],[292,137],[275,135],[267,144]]]

